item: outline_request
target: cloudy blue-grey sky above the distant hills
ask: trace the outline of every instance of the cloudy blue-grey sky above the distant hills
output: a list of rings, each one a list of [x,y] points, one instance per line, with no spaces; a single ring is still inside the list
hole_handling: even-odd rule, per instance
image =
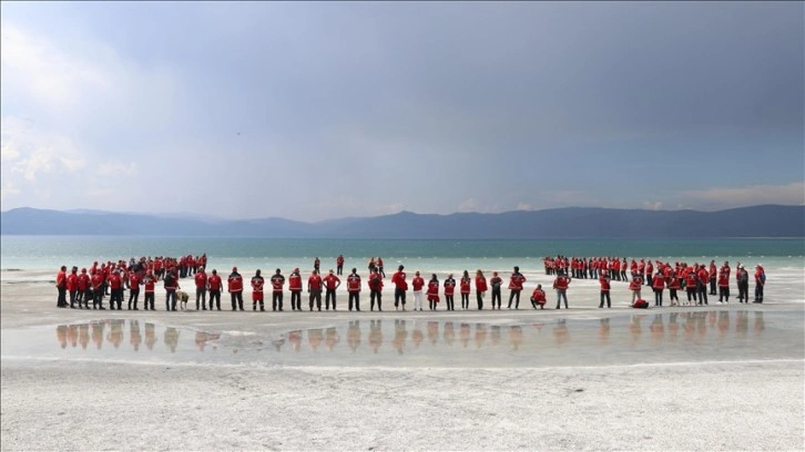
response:
[[[2,210],[805,204],[803,2],[2,2]]]

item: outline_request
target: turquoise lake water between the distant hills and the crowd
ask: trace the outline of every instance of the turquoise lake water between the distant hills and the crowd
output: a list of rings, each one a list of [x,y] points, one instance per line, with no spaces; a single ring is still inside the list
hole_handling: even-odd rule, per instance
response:
[[[366,268],[370,256],[381,256],[386,268],[454,271],[505,269],[519,265],[538,270],[543,256],[621,256],[651,259],[710,261],[710,259],[802,267],[805,240],[785,239],[546,239],[546,240],[410,240],[410,239],[269,239],[215,237],[2,236],[0,268],[53,269],[61,265],[89,266],[93,260],[139,256],[180,256],[206,253],[220,268],[288,269],[335,266],[343,254],[345,267]]]

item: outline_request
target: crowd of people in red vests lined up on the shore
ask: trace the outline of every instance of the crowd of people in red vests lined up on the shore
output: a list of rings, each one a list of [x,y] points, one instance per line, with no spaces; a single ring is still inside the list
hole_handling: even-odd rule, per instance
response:
[[[60,308],[78,308],[90,309],[89,304],[92,301],[92,309],[105,309],[103,307],[104,297],[109,296],[110,309],[122,310],[124,290],[129,290],[129,310],[139,310],[139,296],[141,287],[144,291],[143,308],[145,310],[155,310],[155,289],[159,282],[162,282],[165,290],[165,310],[177,310],[177,301],[187,302],[190,296],[195,292],[196,310],[207,310],[207,296],[210,310],[221,310],[221,296],[224,291],[224,279],[213,269],[210,275],[206,274],[206,254],[201,256],[186,255],[179,258],[173,257],[141,257],[140,259],[131,258],[120,260],[118,263],[108,261],[99,266],[98,261],[89,268],[72,267],[68,273],[67,266],[62,266],[57,275],[55,286],[59,291],[57,306]],[[237,267],[232,268],[232,273],[226,277],[226,292],[230,295],[232,310],[245,310],[243,292],[246,286],[252,289],[252,310],[266,310],[265,295],[266,290],[272,294],[272,311],[284,310],[284,294],[286,290],[291,292],[291,310],[303,310],[302,294],[307,295],[307,309],[313,311],[322,310],[322,296],[324,292],[325,310],[336,308],[336,290],[342,286],[343,266],[345,259],[343,255],[336,258],[337,270],[330,269],[326,275],[322,276],[320,259],[314,260],[313,270],[306,277],[303,277],[299,268],[294,268],[287,278],[283,275],[282,269],[277,268],[268,280],[263,277],[262,271],[257,269],[251,279],[244,278]],[[573,279],[598,279],[600,285],[600,302],[599,308],[607,306],[612,307],[610,291],[612,281],[623,281],[629,284],[629,290],[632,292],[632,307],[648,308],[650,302],[643,299],[643,286],[651,288],[654,294],[654,306],[663,306],[663,297],[665,289],[669,289],[670,306],[702,306],[709,305],[707,296],[719,296],[719,302],[725,304],[730,300],[730,277],[732,269],[730,263],[724,261],[723,265],[716,267],[715,260],[711,260],[710,265],[686,263],[663,263],[661,260],[632,259],[631,264],[625,258],[579,258],[564,256],[546,257],[543,259],[546,275],[553,276],[552,290],[556,291],[557,306],[556,309],[569,308],[568,290]],[[369,260],[369,275],[366,280],[369,290],[369,310],[374,311],[377,307],[378,311],[383,311],[383,288],[386,274],[384,271],[383,259],[373,257]],[[181,290],[180,279],[192,278],[194,291],[185,292]],[[763,266],[755,266],[754,271],[755,289],[754,300],[752,302],[763,302],[763,289],[766,282],[766,275]],[[266,282],[268,286],[266,286]],[[357,269],[353,268],[351,273],[345,278],[346,289],[348,292],[347,309],[349,311],[360,311],[360,292],[363,289],[363,279],[358,275]],[[394,307],[396,310],[407,310],[407,294],[410,289],[412,295],[412,309],[424,310],[424,300],[427,298],[428,309],[438,310],[441,297],[445,298],[445,309],[455,311],[454,297],[456,291],[461,299],[461,310],[471,309],[470,294],[475,287],[476,308],[482,310],[485,308],[483,300],[486,294],[491,292],[491,309],[501,309],[503,278],[498,271],[492,271],[491,277],[487,280],[482,270],[478,269],[471,277],[468,270],[465,270],[458,280],[452,274],[449,274],[442,281],[439,280],[437,274],[431,274],[429,279],[425,279],[420,271],[416,271],[410,279],[409,287],[408,275],[405,273],[405,266],[400,265],[397,271],[391,275],[390,284],[394,285]],[[513,267],[511,274],[508,275],[508,309],[520,308],[520,294],[524,290],[526,277],[520,273],[519,267]],[[738,302],[750,301],[750,274],[741,263],[736,266],[735,282],[738,291]],[[716,291],[717,289],[717,291]],[[686,300],[681,301],[679,291],[685,291]],[[529,297],[533,309],[544,309],[548,304],[548,296],[542,285],[537,287]],[[77,306],[78,305],[78,306]]]

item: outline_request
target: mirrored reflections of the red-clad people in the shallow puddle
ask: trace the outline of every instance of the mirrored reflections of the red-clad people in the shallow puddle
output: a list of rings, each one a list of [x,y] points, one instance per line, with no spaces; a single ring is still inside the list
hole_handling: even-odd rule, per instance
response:
[[[182,329],[176,327],[157,326],[134,319],[59,325],[55,327],[55,333],[59,348],[65,351],[75,349],[90,352],[96,349],[104,352],[120,350],[142,353],[143,350],[147,350],[176,353],[179,350],[183,353],[188,351],[213,353],[222,348],[220,333],[185,331],[185,335],[182,335]],[[691,349],[690,346],[715,346],[713,350],[717,353],[719,347],[737,340],[762,339],[764,333],[767,333],[764,312],[750,310],[646,312],[597,320],[556,319],[530,325],[405,319],[384,322],[375,319],[363,320],[363,323],[361,320],[350,320],[343,326],[297,329],[269,339],[273,347],[254,349],[261,352],[299,356],[318,353],[325,349],[329,353],[349,355],[386,356],[391,352],[396,356],[417,353],[449,356],[482,350],[550,355],[551,350],[569,347],[584,350],[611,348],[614,352],[623,348],[685,351]],[[342,341],[342,335],[346,338],[345,341]],[[367,337],[364,338],[364,335]],[[162,338],[164,348],[154,347],[159,338]],[[129,346],[122,347],[126,340]],[[95,347],[88,347],[90,342]],[[213,347],[207,347],[210,342],[214,342]],[[306,348],[303,347],[304,342],[307,343]],[[226,351],[235,352],[235,350],[243,352],[249,348],[233,347]],[[600,351],[592,353],[601,355]]]

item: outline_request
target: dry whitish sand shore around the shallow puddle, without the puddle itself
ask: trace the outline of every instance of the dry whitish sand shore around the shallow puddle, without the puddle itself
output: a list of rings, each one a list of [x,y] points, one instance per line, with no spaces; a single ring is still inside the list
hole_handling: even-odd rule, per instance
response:
[[[797,270],[799,271],[799,270]],[[14,273],[18,274],[18,273]],[[269,337],[346,322],[349,312],[129,312],[57,309],[45,275],[3,274],[3,333],[100,318],[140,319]],[[52,278],[51,278],[52,279]],[[534,279],[536,276],[534,276]],[[534,280],[531,279],[531,280]],[[724,310],[801,312],[801,281],[771,304]],[[190,281],[185,282],[190,286]],[[630,315],[599,310],[574,281],[570,311],[394,312],[461,321]],[[781,302],[785,292],[793,302]],[[625,294],[625,291],[624,291]],[[524,294],[523,294],[524,295]],[[364,297],[366,298],[366,297]],[[774,300],[777,301],[774,301]],[[617,298],[613,297],[613,301]],[[345,307],[346,297],[339,306]],[[287,302],[287,297],[286,297]],[[227,301],[224,302],[226,306]],[[368,306],[363,301],[364,309]],[[157,309],[164,300],[157,297]],[[505,301],[506,305],[506,301]],[[191,302],[194,306],[194,302]],[[471,300],[475,306],[475,300]],[[528,301],[521,301],[521,309]],[[390,308],[393,309],[393,308]],[[696,308],[674,308],[677,311]],[[659,310],[651,310],[656,312]],[[672,309],[665,308],[663,312]],[[424,316],[424,317],[417,317]],[[771,330],[773,325],[770,325]],[[803,329],[792,330],[803,340]],[[11,336],[3,336],[3,340]],[[53,340],[53,336],[48,338]],[[389,340],[389,338],[387,338]],[[795,339],[796,340],[796,339]],[[3,343],[3,350],[16,345]],[[55,341],[53,341],[55,348]],[[680,347],[684,347],[683,343]],[[767,359],[532,367],[322,367],[9,359],[0,373],[2,450],[805,450],[802,348]],[[753,351],[754,352],[754,351]],[[717,359],[712,359],[717,358]],[[169,358],[170,359],[170,356]]]

